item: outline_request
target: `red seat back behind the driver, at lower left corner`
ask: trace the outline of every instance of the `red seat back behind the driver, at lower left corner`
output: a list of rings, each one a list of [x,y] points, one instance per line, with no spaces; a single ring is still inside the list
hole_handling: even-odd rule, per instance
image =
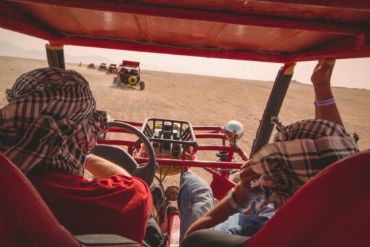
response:
[[[0,153],[0,246],[79,246],[36,189]]]

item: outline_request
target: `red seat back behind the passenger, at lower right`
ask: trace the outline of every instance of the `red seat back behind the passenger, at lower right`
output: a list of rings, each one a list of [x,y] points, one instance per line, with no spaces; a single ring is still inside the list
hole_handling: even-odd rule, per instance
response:
[[[317,174],[243,246],[370,246],[370,150]]]

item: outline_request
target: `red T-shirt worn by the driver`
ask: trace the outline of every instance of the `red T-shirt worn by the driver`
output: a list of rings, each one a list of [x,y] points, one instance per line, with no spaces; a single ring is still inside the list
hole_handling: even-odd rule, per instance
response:
[[[143,241],[152,205],[143,180],[116,175],[89,181],[56,172],[32,175],[29,180],[73,235],[109,233]]]

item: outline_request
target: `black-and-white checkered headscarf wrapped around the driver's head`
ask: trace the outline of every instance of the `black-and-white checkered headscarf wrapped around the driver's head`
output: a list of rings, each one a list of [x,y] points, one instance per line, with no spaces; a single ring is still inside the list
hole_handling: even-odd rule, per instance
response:
[[[75,71],[36,69],[6,91],[0,110],[0,152],[22,172],[82,174],[84,156],[108,130],[88,82]]]

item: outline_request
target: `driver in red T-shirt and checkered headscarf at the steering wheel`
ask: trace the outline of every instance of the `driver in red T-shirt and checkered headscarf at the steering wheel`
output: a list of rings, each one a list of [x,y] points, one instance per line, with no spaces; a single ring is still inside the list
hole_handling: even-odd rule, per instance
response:
[[[86,156],[107,115],[75,71],[21,75],[0,110],[0,152],[29,178],[60,224],[74,235],[110,233],[143,242],[151,213],[147,184],[97,156]],[[84,178],[85,169],[95,176]]]

